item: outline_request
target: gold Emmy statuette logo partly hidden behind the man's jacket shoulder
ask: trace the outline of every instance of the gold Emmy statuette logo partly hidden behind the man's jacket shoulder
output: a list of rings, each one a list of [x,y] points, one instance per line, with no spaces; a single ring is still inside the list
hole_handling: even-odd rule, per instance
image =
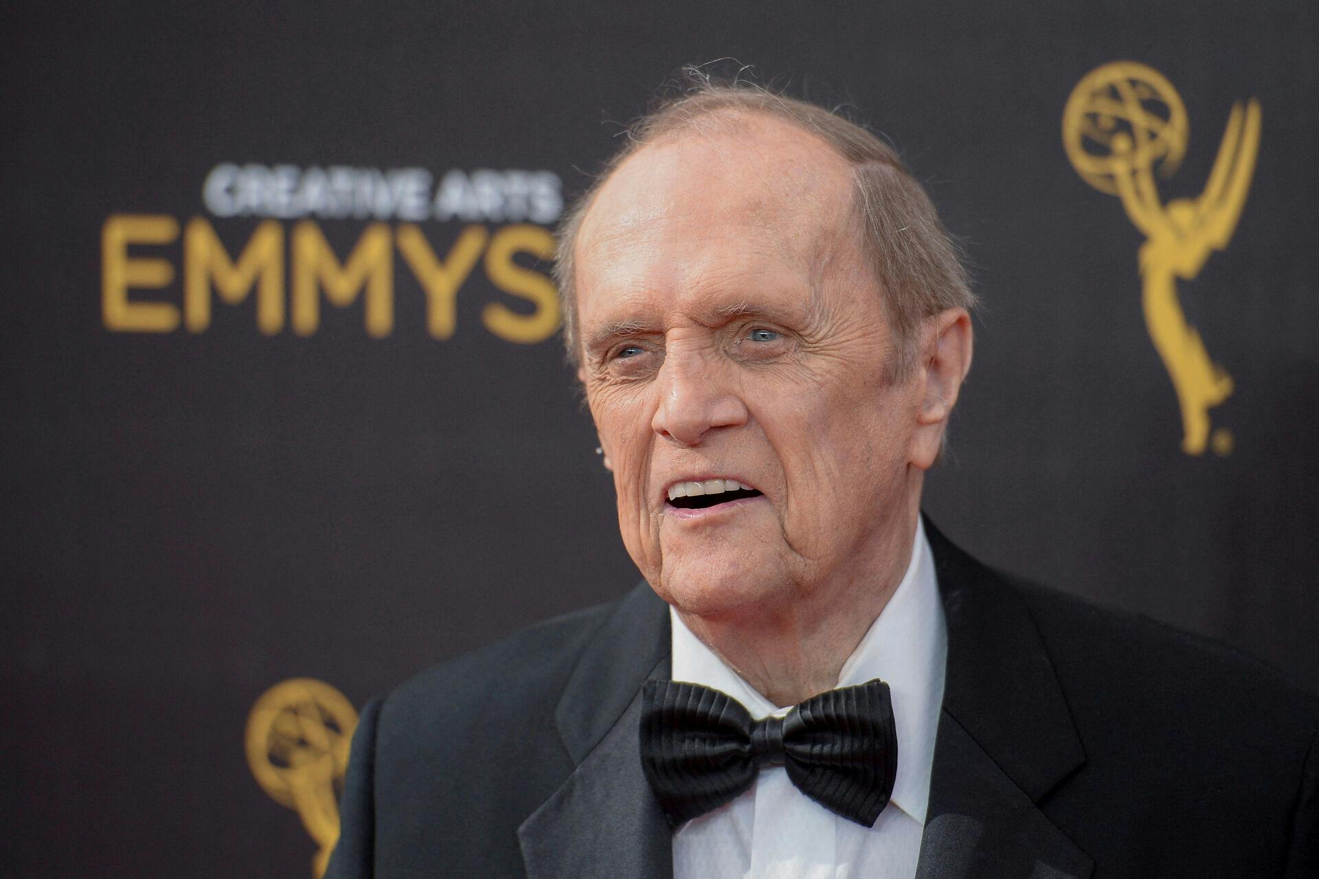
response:
[[[339,800],[357,712],[343,693],[310,677],[276,684],[256,700],[247,725],[247,756],[261,788],[298,812],[319,850],[321,879],[339,841]]]

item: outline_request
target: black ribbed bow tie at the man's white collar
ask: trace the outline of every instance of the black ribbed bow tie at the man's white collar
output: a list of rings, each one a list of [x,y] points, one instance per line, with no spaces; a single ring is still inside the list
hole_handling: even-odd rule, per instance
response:
[[[766,766],[782,766],[802,793],[867,828],[893,792],[898,741],[881,680],[761,721],[700,684],[648,680],[641,700],[641,764],[674,828],[736,797]]]

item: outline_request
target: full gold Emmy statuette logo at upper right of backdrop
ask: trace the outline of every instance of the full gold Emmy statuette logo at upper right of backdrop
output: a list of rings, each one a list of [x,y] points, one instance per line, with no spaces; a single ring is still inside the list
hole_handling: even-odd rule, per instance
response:
[[[1119,196],[1145,233],[1141,304],[1182,409],[1182,451],[1200,455],[1212,441],[1215,452],[1227,455],[1232,434],[1220,427],[1211,439],[1208,410],[1232,394],[1232,377],[1210,360],[1200,333],[1187,323],[1177,278],[1194,279],[1210,253],[1232,240],[1260,150],[1260,101],[1232,105],[1204,192],[1163,204],[1154,174],[1177,171],[1188,128],[1186,107],[1161,72],[1119,61],[1076,83],[1063,111],[1063,146],[1082,179]]]

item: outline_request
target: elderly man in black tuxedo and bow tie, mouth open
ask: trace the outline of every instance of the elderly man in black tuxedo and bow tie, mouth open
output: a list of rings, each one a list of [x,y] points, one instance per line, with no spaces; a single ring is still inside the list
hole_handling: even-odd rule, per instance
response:
[[[363,714],[330,875],[1311,876],[1315,701],[919,513],[972,297],[820,108],[703,84],[565,220],[646,585]]]

